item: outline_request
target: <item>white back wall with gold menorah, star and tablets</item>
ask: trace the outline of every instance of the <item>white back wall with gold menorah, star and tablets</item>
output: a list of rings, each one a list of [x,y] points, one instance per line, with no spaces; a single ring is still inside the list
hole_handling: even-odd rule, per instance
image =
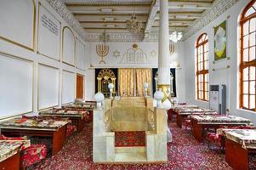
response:
[[[137,44],[138,48],[141,48],[144,54],[145,62],[123,62],[128,55],[128,51],[133,53],[133,45]],[[157,68],[158,66],[158,42],[106,42],[105,45],[109,48],[109,53],[104,57],[104,62],[100,63],[100,56],[96,52],[96,45],[102,44],[100,42],[89,43],[89,59],[86,61],[87,66],[90,68],[86,75],[86,98],[94,99],[94,68]],[[139,51],[134,49],[137,53]],[[132,49],[132,50],[131,50]],[[181,68],[176,70],[176,90],[179,101],[185,100],[185,69],[184,69],[184,44],[178,42],[174,45],[174,54],[170,57],[171,60],[177,61]],[[118,56],[115,56],[114,52],[118,52]],[[148,59],[148,62],[146,62]],[[88,80],[91,84],[88,84]]]

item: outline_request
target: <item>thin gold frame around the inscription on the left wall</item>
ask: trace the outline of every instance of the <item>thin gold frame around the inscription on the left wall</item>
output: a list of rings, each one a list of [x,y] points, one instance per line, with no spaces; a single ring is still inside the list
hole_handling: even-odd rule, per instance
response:
[[[43,8],[45,8],[46,11],[48,12],[48,14],[52,15],[52,16],[54,17],[54,19],[57,20],[57,21],[60,23],[60,34],[61,34],[61,22],[60,22],[60,20],[58,20],[58,19],[54,16],[54,14],[52,14],[50,11],[48,11],[48,9],[47,9],[41,2],[38,1],[38,8],[37,8],[37,10],[38,10],[38,14],[37,14],[37,54],[43,55],[44,57],[47,57],[47,58],[49,58],[49,59],[54,59],[54,57],[48,56],[48,55],[46,55],[46,54],[43,54],[43,53],[41,53],[41,52],[38,50],[40,6],[42,6]],[[61,36],[60,36],[59,38],[60,38],[60,40],[59,40],[59,45],[60,45],[60,47],[61,47],[61,44],[60,44],[60,42],[61,42]],[[59,51],[58,59],[54,59],[54,60],[60,61],[60,55],[61,55],[61,54],[60,54],[60,51]]]

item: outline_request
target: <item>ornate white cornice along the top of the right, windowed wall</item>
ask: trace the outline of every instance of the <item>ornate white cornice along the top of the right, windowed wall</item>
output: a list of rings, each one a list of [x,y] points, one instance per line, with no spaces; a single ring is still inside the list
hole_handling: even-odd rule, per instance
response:
[[[195,23],[185,30],[183,41],[191,37],[196,31],[200,31],[204,26],[207,26],[210,22],[219,17],[220,14],[231,8],[234,4],[240,0],[217,0],[213,7],[203,14],[203,17],[196,20]]]

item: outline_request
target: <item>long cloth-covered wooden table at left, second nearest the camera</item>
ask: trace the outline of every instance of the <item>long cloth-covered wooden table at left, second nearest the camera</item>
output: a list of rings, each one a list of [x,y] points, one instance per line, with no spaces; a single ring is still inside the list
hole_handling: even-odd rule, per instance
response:
[[[38,127],[35,126],[24,126],[23,123],[11,123],[15,119],[8,122],[1,122],[0,128],[3,135],[6,136],[35,136],[35,137],[50,137],[51,143],[53,144],[52,155],[58,153],[63,145],[65,144],[65,133],[66,125],[68,122],[61,122],[62,124],[56,127]],[[56,123],[60,123],[56,121]]]

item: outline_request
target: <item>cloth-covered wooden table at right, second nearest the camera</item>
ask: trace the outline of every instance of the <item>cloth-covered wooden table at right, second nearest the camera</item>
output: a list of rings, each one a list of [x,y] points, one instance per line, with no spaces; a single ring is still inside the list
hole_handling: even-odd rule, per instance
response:
[[[217,129],[220,126],[248,125],[251,121],[238,116],[211,116],[196,115],[191,116],[192,133],[198,142],[203,141],[205,129]]]

